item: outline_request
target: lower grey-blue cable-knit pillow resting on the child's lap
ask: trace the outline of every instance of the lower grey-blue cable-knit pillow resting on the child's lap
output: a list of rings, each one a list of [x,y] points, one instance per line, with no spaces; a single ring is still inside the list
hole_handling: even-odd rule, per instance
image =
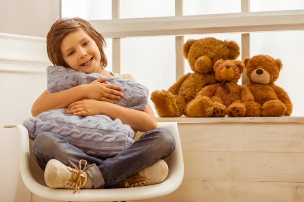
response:
[[[105,115],[74,116],[66,109],[50,110],[23,122],[29,138],[51,132],[63,136],[70,144],[85,154],[100,158],[112,158],[133,143],[135,131],[120,119]]]

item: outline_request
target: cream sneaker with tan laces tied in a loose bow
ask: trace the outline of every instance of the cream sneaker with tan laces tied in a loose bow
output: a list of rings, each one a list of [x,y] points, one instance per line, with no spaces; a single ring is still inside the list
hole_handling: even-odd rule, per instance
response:
[[[95,164],[87,166],[87,161],[81,160],[79,162],[79,168],[77,168],[71,161],[69,162],[74,168],[65,166],[55,159],[52,159],[47,163],[44,178],[49,187],[74,189],[73,193],[75,193],[77,190],[80,192],[80,188],[83,188],[86,185],[88,175],[84,171]],[[83,170],[81,170],[81,162],[86,163]]]

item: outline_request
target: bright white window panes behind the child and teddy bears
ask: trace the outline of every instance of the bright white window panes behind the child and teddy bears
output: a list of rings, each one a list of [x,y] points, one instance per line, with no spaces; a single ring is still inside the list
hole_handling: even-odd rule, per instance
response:
[[[123,0],[120,1],[121,18],[146,18],[174,16],[174,0]],[[304,9],[302,0],[250,1],[250,12],[282,11]],[[223,13],[240,13],[241,0],[184,0],[183,15],[210,15]],[[87,20],[111,19],[111,1],[104,0],[62,0],[62,16],[79,16]],[[218,39],[235,40],[241,47],[241,33],[185,35],[189,38],[213,36]],[[108,58],[107,69],[111,71],[111,39],[107,39],[105,53]],[[301,116],[304,109],[301,103],[304,90],[301,84],[301,56],[304,53],[304,32],[277,31],[250,33],[250,57],[267,54],[283,62],[283,70],[276,81],[289,94],[294,110],[292,116]],[[241,56],[239,57],[241,59]],[[191,72],[185,60],[185,73]],[[149,36],[121,39],[121,73],[131,73],[135,79],[145,84],[150,92],[156,89],[167,89],[175,82],[175,37]],[[297,97],[295,97],[297,96]],[[153,107],[153,103],[150,102]]]

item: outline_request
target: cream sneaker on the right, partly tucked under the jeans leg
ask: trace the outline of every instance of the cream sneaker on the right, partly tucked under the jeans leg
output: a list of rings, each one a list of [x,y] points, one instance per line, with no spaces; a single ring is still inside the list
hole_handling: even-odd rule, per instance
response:
[[[169,168],[167,163],[160,159],[153,165],[137,172],[133,176],[125,179],[125,187],[136,187],[159,184],[168,176]]]

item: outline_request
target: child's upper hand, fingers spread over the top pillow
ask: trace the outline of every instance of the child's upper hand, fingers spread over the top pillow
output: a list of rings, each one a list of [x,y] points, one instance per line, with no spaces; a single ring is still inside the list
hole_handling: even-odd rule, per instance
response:
[[[104,84],[103,82],[107,80],[108,78],[100,77],[89,84],[85,84],[86,98],[113,103],[113,101],[108,98],[120,99],[123,97],[124,94],[117,91],[122,90],[123,88],[117,85]]]

